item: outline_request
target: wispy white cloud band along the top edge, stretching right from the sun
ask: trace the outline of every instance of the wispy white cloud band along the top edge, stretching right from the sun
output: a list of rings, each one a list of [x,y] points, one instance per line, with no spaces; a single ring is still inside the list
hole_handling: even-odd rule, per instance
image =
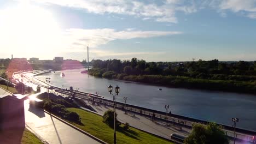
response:
[[[21,1],[21,0],[20,0]],[[126,0],[31,0],[43,4],[56,4],[63,7],[84,9],[95,14],[121,14],[142,17],[143,20],[153,19],[159,22],[177,23],[176,11],[194,13],[194,5],[182,5],[180,0],[166,0],[159,5],[154,1],[143,3]]]

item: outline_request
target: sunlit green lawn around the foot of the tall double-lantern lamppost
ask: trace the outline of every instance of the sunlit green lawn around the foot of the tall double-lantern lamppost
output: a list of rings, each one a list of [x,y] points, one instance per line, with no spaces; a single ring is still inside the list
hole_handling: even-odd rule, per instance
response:
[[[72,123],[75,127],[83,129],[87,131],[91,135],[98,137],[99,139],[107,142],[107,143],[114,143],[113,141],[113,129],[110,128],[107,124],[103,123],[103,118],[95,113],[91,113],[88,111],[84,111],[82,109],[76,108],[68,108],[69,111],[77,112],[81,118],[81,122],[84,125],[79,125],[76,123]],[[121,125],[123,127],[123,125]],[[160,139],[152,134],[145,133],[141,130],[131,128],[129,130],[117,131],[117,143],[172,143],[170,141]]]

